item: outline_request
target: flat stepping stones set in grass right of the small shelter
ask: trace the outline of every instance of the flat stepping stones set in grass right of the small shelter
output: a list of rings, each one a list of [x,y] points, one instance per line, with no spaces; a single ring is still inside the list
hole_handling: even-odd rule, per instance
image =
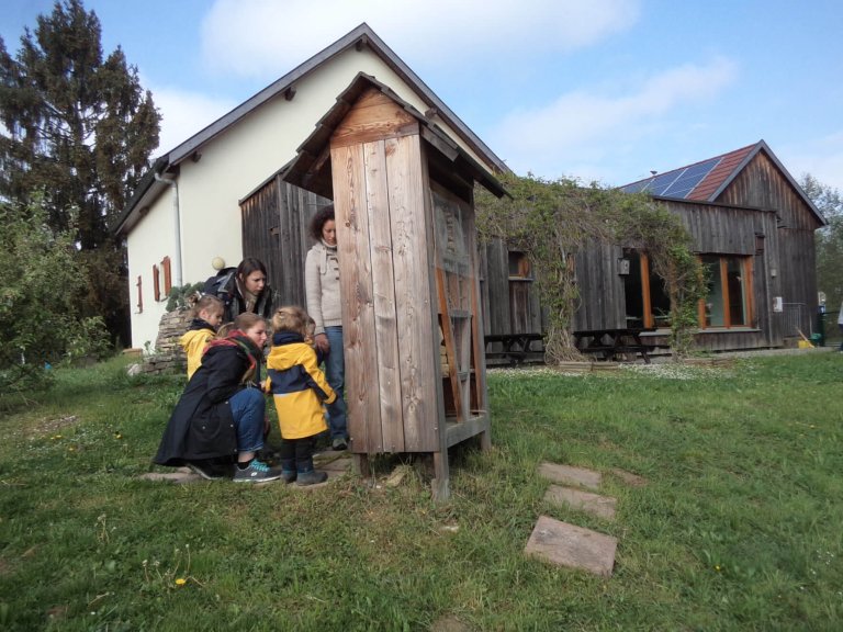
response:
[[[647,484],[641,476],[631,472],[617,467],[610,472],[627,485],[640,487]],[[539,474],[552,483],[561,484],[551,485],[544,494],[544,500],[549,504],[572,507],[606,520],[615,519],[616,499],[594,493],[603,482],[599,472],[558,463],[541,463]],[[617,546],[618,540],[611,535],[562,522],[549,516],[539,516],[524,551],[527,555],[552,564],[610,577]]]

